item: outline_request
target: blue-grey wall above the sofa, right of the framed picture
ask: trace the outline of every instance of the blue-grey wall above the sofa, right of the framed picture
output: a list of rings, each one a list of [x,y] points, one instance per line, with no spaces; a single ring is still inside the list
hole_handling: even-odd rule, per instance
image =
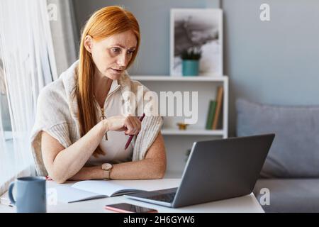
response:
[[[259,20],[259,6],[271,20]],[[224,0],[224,72],[230,76],[230,132],[235,98],[265,104],[319,104],[319,1]]]

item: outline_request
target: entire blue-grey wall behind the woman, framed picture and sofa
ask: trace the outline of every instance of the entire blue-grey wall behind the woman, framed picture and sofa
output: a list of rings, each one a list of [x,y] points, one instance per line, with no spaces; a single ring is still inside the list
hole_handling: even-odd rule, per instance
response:
[[[270,6],[271,21],[259,20]],[[169,10],[221,7],[224,74],[230,77],[230,135],[235,98],[266,104],[319,104],[319,1],[86,1],[74,0],[77,27],[96,9],[122,5],[140,22],[142,45],[131,74],[169,74]]]

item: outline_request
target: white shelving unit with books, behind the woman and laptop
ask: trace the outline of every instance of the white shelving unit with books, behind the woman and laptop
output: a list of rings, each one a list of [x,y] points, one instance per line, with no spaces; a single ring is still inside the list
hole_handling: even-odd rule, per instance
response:
[[[167,148],[167,170],[182,173],[185,165],[185,152],[191,148],[194,141],[209,140],[212,138],[228,137],[228,77],[172,77],[167,75],[136,75],[131,79],[138,80],[150,90],[157,92],[198,92],[198,122],[180,131],[177,122],[184,121],[184,117],[164,116],[162,135]],[[223,86],[223,109],[220,113],[223,119],[222,128],[207,130],[206,119],[209,100],[216,99],[217,87]]]

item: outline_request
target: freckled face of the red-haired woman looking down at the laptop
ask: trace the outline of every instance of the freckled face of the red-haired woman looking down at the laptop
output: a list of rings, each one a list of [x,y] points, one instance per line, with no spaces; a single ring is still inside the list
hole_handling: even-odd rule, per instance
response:
[[[126,70],[138,41],[133,31],[111,35],[102,40],[94,40],[86,35],[84,46],[91,52],[99,74],[110,79],[119,79]]]

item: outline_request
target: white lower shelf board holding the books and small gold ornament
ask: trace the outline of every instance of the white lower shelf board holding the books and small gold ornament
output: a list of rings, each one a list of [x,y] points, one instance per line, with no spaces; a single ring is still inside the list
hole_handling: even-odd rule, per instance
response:
[[[177,128],[162,128],[162,135],[224,135],[223,130],[206,130],[189,128],[181,131]]]

